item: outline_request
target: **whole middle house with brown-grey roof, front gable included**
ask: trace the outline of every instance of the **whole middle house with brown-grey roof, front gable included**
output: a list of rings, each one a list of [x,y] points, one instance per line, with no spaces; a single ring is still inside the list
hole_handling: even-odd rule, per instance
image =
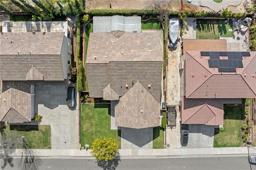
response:
[[[162,31],[93,32],[86,57],[90,97],[116,100],[116,126],[159,126]]]

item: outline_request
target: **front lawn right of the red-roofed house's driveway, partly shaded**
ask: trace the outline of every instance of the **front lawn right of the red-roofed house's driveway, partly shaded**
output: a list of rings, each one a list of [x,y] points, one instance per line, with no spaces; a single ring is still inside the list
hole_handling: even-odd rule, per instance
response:
[[[224,131],[217,132],[214,135],[214,148],[219,147],[240,147],[241,125],[243,120],[243,110],[239,106],[225,108],[224,114]]]

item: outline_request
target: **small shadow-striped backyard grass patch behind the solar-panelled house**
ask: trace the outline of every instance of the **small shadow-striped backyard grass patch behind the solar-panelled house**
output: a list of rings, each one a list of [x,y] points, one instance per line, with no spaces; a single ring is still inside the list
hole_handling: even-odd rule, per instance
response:
[[[219,39],[218,20],[196,20],[197,39]]]

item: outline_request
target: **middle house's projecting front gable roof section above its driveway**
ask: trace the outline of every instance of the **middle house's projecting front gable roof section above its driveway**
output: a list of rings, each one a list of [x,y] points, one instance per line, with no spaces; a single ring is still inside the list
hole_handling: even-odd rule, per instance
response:
[[[158,101],[137,81],[115,107],[116,126],[135,129],[159,126],[159,113]]]

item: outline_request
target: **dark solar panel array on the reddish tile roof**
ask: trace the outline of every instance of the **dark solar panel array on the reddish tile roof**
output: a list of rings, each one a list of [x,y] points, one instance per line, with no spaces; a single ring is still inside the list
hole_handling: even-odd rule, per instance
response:
[[[201,56],[210,56],[209,67],[217,67],[219,72],[236,72],[236,68],[243,68],[243,56],[250,57],[250,52],[201,52]],[[227,56],[228,60],[221,60],[220,56]]]

